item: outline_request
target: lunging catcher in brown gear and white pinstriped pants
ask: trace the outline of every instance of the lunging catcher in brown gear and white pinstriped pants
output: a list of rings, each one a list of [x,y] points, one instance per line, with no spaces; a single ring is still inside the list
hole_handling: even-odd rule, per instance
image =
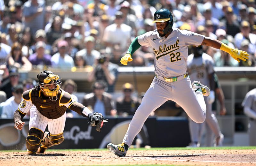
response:
[[[66,122],[67,108],[89,118],[89,123],[100,131],[103,117],[92,113],[83,104],[75,101],[71,95],[62,90],[62,80],[51,71],[44,70],[37,75],[39,85],[22,94],[23,101],[14,112],[14,127],[23,128],[23,117],[30,111],[29,131],[26,139],[28,154],[44,153],[63,140],[63,130]],[[48,125],[49,132],[44,130]],[[44,136],[45,135],[45,136]]]

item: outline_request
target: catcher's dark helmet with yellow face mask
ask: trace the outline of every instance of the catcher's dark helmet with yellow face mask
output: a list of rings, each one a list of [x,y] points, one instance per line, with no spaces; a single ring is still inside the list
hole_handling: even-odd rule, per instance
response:
[[[61,87],[62,79],[58,75],[53,74],[51,71],[44,70],[37,75],[39,80],[40,89],[46,94],[50,100],[56,101],[58,99],[59,90]],[[49,88],[53,85],[54,88]]]

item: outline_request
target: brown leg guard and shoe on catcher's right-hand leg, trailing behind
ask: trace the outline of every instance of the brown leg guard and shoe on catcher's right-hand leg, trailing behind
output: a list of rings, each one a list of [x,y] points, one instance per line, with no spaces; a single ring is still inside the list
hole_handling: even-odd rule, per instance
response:
[[[46,149],[54,145],[59,145],[64,141],[63,132],[60,134],[52,135],[48,133],[46,137],[42,140],[40,148],[38,148],[37,153],[44,153]]]

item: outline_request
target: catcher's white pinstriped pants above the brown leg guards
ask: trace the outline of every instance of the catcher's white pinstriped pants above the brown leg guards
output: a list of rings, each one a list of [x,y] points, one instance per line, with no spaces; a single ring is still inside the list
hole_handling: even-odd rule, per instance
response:
[[[30,109],[29,129],[35,127],[44,132],[48,125],[48,130],[51,134],[60,134],[64,131],[66,122],[66,112],[64,115],[57,119],[48,119],[44,117],[37,109],[36,106],[32,106]]]

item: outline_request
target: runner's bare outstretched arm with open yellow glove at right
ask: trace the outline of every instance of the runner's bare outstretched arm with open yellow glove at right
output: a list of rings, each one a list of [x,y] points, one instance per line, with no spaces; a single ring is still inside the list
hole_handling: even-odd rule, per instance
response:
[[[225,51],[228,54],[230,54],[231,57],[233,57],[238,62],[240,62],[240,59],[243,61],[246,61],[246,59],[249,58],[248,57],[249,55],[247,54],[247,52],[239,50],[239,49],[232,49],[231,47],[227,46],[226,44],[222,43],[221,41],[212,39],[210,37],[205,37],[201,45],[210,46],[215,49],[220,49],[222,51]]]

